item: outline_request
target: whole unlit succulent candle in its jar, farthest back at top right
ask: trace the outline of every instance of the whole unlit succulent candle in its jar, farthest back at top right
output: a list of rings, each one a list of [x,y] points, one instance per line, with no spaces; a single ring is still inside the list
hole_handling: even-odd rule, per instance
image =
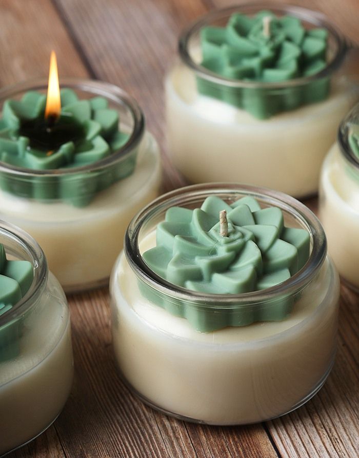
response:
[[[322,15],[302,8],[248,5],[201,17],[181,36],[165,83],[174,165],[192,183],[316,192],[337,126],[358,96],[336,73],[346,49]]]

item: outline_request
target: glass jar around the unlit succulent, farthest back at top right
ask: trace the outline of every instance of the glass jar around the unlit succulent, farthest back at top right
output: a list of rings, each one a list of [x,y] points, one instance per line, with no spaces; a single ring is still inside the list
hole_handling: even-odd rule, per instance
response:
[[[230,79],[200,63],[201,30],[225,26],[234,13],[262,9],[328,30],[322,71],[281,83]],[[233,182],[304,197],[317,192],[322,161],[358,92],[350,81],[343,36],[321,13],[267,3],[216,10],[179,38],[166,82],[167,141],[176,168],[191,183]],[[309,96],[308,96],[309,94]]]

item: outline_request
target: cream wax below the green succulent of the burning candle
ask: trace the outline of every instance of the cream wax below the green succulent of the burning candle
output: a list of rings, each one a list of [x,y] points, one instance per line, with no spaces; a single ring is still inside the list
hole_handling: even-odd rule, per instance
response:
[[[159,150],[146,134],[132,175],[98,193],[87,207],[40,203],[0,191],[0,218],[32,235],[65,291],[109,277],[127,225],[159,192]]]

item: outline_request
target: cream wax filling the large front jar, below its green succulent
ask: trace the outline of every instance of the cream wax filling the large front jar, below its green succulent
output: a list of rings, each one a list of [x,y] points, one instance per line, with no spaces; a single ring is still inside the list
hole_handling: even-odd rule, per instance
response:
[[[141,251],[154,245],[145,239]],[[149,303],[122,254],[111,277],[115,357],[148,402],[210,424],[292,410],[324,382],[335,349],[338,278],[329,261],[281,322],[201,333]]]

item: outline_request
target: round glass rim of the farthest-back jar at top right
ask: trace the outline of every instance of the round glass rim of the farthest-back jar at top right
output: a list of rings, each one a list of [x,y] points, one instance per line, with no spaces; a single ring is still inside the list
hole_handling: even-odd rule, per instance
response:
[[[262,9],[270,9],[274,13],[289,13],[293,14],[296,17],[306,20],[307,22],[318,26],[318,27],[325,27],[334,38],[337,44],[337,51],[331,61],[327,64],[327,66],[318,73],[314,73],[309,76],[302,76],[300,78],[293,78],[288,79],[285,82],[278,82],[278,83],[264,83],[258,81],[243,81],[241,79],[231,79],[227,78],[222,75],[218,75],[216,73],[211,72],[210,70],[206,69],[205,67],[196,64],[189,51],[188,51],[188,44],[191,36],[198,32],[202,27],[211,23],[214,19],[218,18],[225,18],[230,16],[235,12],[243,12],[243,13],[253,13],[257,12]],[[186,27],[181,35],[179,36],[178,40],[178,53],[179,57],[181,58],[182,62],[192,69],[197,76],[205,79],[206,81],[214,84],[221,84],[225,85],[230,88],[248,88],[248,89],[285,89],[285,88],[293,88],[297,86],[303,86],[309,84],[313,81],[317,81],[323,77],[329,76],[332,74],[336,69],[338,69],[345,57],[347,52],[348,45],[346,42],[345,37],[342,33],[338,30],[338,28],[329,21],[328,17],[318,11],[313,11],[308,8],[303,8],[300,6],[294,5],[274,5],[273,3],[244,3],[243,5],[236,5],[231,6],[228,8],[221,8],[216,9],[214,11],[210,11],[207,14],[204,14],[199,19],[193,21],[188,27]]]

